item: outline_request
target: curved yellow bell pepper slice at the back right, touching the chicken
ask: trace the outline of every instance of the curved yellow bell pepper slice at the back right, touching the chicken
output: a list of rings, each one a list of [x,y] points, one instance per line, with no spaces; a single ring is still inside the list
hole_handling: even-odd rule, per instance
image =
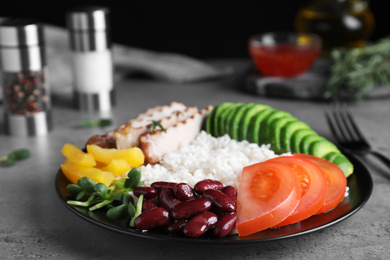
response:
[[[145,156],[139,147],[129,149],[101,148],[95,144],[87,145],[88,153],[91,153],[96,161],[109,164],[113,159],[125,160],[131,168],[144,164]]]

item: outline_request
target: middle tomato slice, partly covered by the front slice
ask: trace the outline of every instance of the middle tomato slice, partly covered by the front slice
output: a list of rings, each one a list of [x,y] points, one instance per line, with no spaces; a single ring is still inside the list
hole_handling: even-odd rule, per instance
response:
[[[297,156],[281,156],[271,161],[286,163],[295,173],[302,196],[293,213],[276,227],[297,223],[314,215],[323,205],[328,189],[325,173],[316,164]]]

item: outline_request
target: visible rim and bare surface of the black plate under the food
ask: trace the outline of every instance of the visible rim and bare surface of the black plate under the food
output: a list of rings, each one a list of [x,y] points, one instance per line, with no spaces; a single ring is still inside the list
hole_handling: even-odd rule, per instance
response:
[[[66,201],[69,198],[69,193],[66,191],[66,186],[70,182],[66,179],[61,170],[59,170],[57,174],[55,186],[59,198],[70,211],[95,225],[110,229],[115,232],[128,234],[134,237],[163,241],[168,240],[172,242],[190,242],[209,245],[242,245],[254,242],[260,243],[275,241],[312,233],[339,223],[356,213],[364,206],[364,204],[371,196],[373,182],[367,168],[356,157],[348,155],[348,158],[355,167],[354,174],[348,178],[349,196],[345,197],[344,200],[335,209],[327,213],[312,216],[297,224],[288,225],[279,229],[268,229],[247,237],[231,235],[222,239],[212,237],[200,237],[194,239],[182,236],[171,236],[159,232],[140,232],[134,228],[129,227],[128,221],[113,222],[108,220],[105,217],[105,212],[103,210],[90,212],[87,208],[68,205]]]

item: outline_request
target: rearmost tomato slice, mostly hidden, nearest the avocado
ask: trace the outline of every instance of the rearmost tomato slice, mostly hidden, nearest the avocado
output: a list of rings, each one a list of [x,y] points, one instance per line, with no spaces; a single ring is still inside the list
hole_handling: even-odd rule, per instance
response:
[[[316,214],[334,209],[344,199],[345,190],[347,188],[347,178],[345,177],[343,171],[336,164],[314,155],[293,154],[293,156],[305,158],[314,162],[325,173],[328,191],[324,205],[316,212]]]

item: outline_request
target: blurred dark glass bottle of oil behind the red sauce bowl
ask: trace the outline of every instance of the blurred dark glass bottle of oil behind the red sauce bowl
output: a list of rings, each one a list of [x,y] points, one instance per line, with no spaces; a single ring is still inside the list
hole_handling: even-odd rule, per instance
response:
[[[364,47],[374,26],[374,15],[363,0],[315,0],[302,7],[295,20],[298,32],[322,38],[325,57],[335,47]]]

